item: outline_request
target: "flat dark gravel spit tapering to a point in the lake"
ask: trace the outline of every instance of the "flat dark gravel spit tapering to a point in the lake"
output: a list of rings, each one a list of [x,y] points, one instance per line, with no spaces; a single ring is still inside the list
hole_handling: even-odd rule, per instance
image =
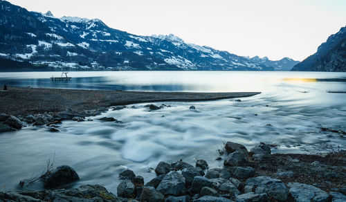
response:
[[[116,105],[142,102],[205,101],[227,98],[242,98],[260,92],[236,93],[185,93],[146,91],[105,91],[82,89],[43,89],[8,86],[0,91],[0,112],[10,115],[60,112],[66,108],[75,111],[100,109]]]

